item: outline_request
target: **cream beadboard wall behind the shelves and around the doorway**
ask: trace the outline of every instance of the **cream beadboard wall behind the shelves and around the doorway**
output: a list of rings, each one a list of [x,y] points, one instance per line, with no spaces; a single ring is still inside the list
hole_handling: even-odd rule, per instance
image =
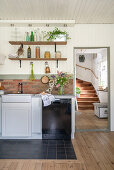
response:
[[[61,50],[62,54],[64,53],[63,57],[67,57],[68,60],[60,62],[59,70],[73,72],[73,47],[110,47],[111,130],[114,131],[114,24],[77,24],[72,28],[67,28],[67,30],[72,39],[68,41],[67,46],[60,46],[57,49]],[[8,44],[10,32],[11,28],[9,27],[0,28],[0,53],[5,55],[8,55],[13,48]],[[44,64],[42,63],[34,64],[36,74],[44,71]],[[52,71],[55,72],[55,63],[49,64]],[[20,69],[18,62],[7,59],[5,65],[0,66],[0,74],[27,74],[30,72],[29,67],[29,63],[23,62]]]

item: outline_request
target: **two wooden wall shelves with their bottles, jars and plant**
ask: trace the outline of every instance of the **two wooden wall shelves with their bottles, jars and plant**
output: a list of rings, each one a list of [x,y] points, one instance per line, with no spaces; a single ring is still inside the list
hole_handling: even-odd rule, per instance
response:
[[[33,31],[31,31],[31,35],[29,36],[29,33],[26,32],[26,41],[9,41],[9,43],[11,45],[20,45],[20,47],[18,48],[18,51],[16,54],[14,55],[9,55],[9,59],[10,60],[18,60],[20,61],[20,67],[21,67],[21,61],[22,60],[52,60],[52,61],[57,61],[57,67],[58,67],[58,61],[65,61],[67,60],[67,58],[61,58],[61,52],[60,51],[56,51],[56,46],[57,45],[67,45],[67,39],[70,39],[68,33],[66,31],[61,31],[58,28],[55,28],[53,31],[49,31],[47,33],[45,33],[44,36],[46,39],[44,41],[37,41],[40,39],[37,39],[36,36],[36,32],[35,34],[33,34]],[[28,45],[29,48],[27,50],[27,58],[22,58],[22,55],[24,53],[24,45]],[[37,51],[38,51],[38,57],[36,55],[36,58],[31,58],[31,48],[30,45],[54,45],[55,46],[55,58],[51,58],[50,54],[48,54],[48,57],[44,55],[44,58],[40,58],[40,47],[36,47]],[[28,53],[28,51],[30,53]],[[50,53],[49,51],[46,51],[48,53]],[[45,52],[45,53],[46,53]],[[28,56],[28,54],[30,54]]]

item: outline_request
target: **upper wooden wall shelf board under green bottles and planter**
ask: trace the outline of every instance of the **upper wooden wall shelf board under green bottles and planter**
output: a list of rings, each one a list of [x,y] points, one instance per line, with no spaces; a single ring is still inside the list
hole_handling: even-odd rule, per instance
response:
[[[9,41],[11,45],[66,45],[67,41]]]

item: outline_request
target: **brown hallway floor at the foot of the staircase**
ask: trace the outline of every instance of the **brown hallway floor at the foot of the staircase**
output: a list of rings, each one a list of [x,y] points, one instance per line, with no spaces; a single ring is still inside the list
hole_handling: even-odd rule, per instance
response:
[[[76,129],[107,129],[108,119],[99,119],[94,110],[79,110],[76,115]]]

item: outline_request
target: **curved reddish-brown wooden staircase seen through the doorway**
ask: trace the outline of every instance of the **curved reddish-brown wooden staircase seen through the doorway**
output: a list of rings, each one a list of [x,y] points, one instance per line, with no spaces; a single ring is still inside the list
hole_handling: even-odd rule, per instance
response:
[[[80,98],[77,99],[79,110],[93,110],[93,103],[99,103],[96,91],[90,82],[76,79],[76,86],[80,88]]]

